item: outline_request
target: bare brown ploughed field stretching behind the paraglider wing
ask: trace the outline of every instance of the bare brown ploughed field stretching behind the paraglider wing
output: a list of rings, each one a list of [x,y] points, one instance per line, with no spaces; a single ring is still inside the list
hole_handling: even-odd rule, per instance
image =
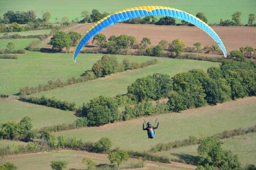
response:
[[[81,24],[69,29],[84,35],[93,24]],[[239,49],[241,46],[250,45],[255,48],[256,28],[255,27],[217,27],[213,30],[220,36],[226,50]],[[135,36],[140,42],[143,37],[151,40],[151,45],[157,45],[160,40],[172,41],[181,39],[187,42],[187,46],[192,46],[195,42],[201,42],[201,46],[214,45],[216,42],[204,31],[197,27],[187,26],[166,26],[166,25],[139,25],[139,24],[114,24],[101,31],[107,38],[111,35],[119,36],[126,34]],[[92,45],[89,40],[89,45]],[[72,50],[72,49],[71,49]]]

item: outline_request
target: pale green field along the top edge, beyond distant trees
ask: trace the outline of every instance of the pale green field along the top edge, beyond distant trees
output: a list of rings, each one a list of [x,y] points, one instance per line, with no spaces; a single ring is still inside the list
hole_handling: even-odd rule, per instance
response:
[[[208,18],[208,23],[219,23],[220,19],[231,19],[231,15],[235,11],[242,12],[242,23],[247,23],[248,14],[255,14],[256,1],[254,0],[153,0],[153,1],[125,1],[125,0],[88,0],[82,1],[77,0],[75,2],[69,0],[61,1],[39,1],[35,0],[31,2],[30,0],[2,0],[0,1],[0,15],[2,16],[8,10],[13,11],[28,11],[34,10],[39,18],[42,18],[43,12],[51,13],[51,22],[60,22],[63,16],[67,16],[69,19],[81,19],[81,11],[92,11],[92,9],[98,9],[100,12],[108,11],[115,12],[123,10],[125,8],[137,7],[137,6],[147,6],[147,5],[157,5],[157,6],[168,6],[173,8],[178,8],[196,15],[197,12],[203,12]]]

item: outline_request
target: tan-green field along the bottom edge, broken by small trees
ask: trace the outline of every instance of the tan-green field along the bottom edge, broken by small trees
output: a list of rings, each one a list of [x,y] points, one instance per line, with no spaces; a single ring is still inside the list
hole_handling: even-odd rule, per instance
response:
[[[37,154],[14,155],[6,156],[0,159],[0,164],[5,162],[14,163],[18,169],[51,169],[52,160],[65,160],[68,162],[67,169],[86,169],[86,165],[82,164],[82,159],[85,157],[91,158],[97,165],[110,164],[107,154],[96,154],[86,151],[53,151],[43,152]],[[138,159],[130,158],[127,162],[121,164],[121,168],[128,167],[131,164],[138,163]],[[186,165],[181,163],[164,164],[158,162],[146,161],[144,162],[146,169],[195,169],[193,165]],[[143,169],[144,169],[143,168]]]

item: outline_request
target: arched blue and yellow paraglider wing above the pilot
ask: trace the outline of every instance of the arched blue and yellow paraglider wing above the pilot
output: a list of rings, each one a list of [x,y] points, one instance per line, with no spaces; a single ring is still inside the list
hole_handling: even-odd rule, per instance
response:
[[[187,12],[180,11],[171,7],[142,6],[128,8],[126,10],[115,12],[95,23],[92,27],[88,29],[88,31],[85,32],[84,36],[82,36],[82,38],[80,39],[79,44],[77,44],[73,53],[73,61],[76,62],[76,57],[79,54],[80,50],[84,47],[86,42],[88,42],[98,32],[102,31],[102,29],[105,29],[106,27],[109,27],[110,25],[113,25],[115,23],[123,22],[125,20],[137,18],[140,16],[171,16],[173,18],[182,19],[186,22],[192,23],[208,33],[208,35],[212,37],[212,39],[216,41],[217,44],[220,46],[222,52],[224,53],[224,56],[227,56],[225,46],[222,43],[220,37],[218,37],[217,33],[214,32],[213,29],[209,27],[209,25],[204,23],[199,18],[196,18],[195,16],[188,14]]]

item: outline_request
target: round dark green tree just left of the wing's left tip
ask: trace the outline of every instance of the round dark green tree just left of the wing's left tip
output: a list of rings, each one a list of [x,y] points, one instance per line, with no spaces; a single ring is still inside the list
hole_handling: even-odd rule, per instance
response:
[[[51,41],[49,42],[52,45],[53,49],[62,50],[64,47],[69,49],[73,44],[69,35],[63,31],[57,31],[51,37]]]

